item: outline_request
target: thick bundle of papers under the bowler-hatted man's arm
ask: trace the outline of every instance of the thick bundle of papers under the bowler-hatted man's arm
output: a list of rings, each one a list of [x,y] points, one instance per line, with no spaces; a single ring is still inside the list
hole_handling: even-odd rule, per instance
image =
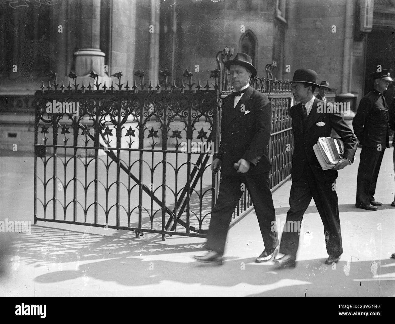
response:
[[[339,138],[320,137],[313,150],[322,170],[328,170],[343,158],[344,143]]]

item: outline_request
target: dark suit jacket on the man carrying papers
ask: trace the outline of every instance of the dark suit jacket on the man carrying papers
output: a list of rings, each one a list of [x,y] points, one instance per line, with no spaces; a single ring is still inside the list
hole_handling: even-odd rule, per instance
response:
[[[357,140],[354,133],[340,114],[319,113],[317,110],[319,102],[324,103],[322,100],[314,99],[304,131],[302,124],[302,103],[299,102],[299,104],[293,105],[290,108],[294,139],[291,171],[292,181],[300,179],[306,163],[309,164],[317,181],[329,181],[337,178],[337,170],[322,170],[313,150],[313,146],[317,144],[318,138],[329,137],[332,128],[344,142],[343,158],[354,162],[354,155],[357,150]],[[318,122],[325,122],[325,125],[318,126],[316,125]]]

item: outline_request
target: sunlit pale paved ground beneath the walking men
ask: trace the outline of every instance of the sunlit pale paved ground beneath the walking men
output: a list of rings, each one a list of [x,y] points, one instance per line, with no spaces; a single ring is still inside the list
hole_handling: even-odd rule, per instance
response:
[[[359,160],[360,149],[356,157]],[[327,257],[314,202],[305,214],[295,269],[256,264],[263,250],[254,212],[229,231],[226,261],[199,264],[204,239],[39,222],[30,235],[0,233],[1,296],[395,296],[393,149],[386,150],[375,198],[378,211],[356,209],[358,162],[340,171],[344,254]],[[33,219],[33,159],[0,157],[0,219]],[[284,221],[291,182],[273,194]],[[280,233],[281,234],[281,233]],[[3,259],[1,259],[1,256]]]

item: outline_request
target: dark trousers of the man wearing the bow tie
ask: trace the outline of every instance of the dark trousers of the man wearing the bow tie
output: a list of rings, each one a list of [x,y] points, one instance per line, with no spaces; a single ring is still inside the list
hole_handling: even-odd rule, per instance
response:
[[[278,246],[276,214],[269,188],[269,172],[266,172],[254,175],[222,175],[218,198],[211,212],[206,249],[224,254],[229,222],[244,193],[241,190],[242,184],[248,190],[254,205],[265,249],[274,249]]]

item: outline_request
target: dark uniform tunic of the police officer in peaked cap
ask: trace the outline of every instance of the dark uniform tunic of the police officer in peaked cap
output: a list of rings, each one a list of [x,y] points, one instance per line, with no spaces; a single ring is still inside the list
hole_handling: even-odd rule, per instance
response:
[[[389,147],[389,112],[378,91],[372,90],[361,99],[352,126],[361,145]]]

